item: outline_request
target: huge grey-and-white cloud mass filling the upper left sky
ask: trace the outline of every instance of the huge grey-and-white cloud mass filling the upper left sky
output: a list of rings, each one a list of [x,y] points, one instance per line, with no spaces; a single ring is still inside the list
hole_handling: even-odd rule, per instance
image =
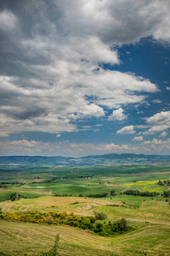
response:
[[[73,121],[100,119],[105,108],[119,108],[109,119],[125,119],[122,106],[144,102],[156,84],[102,64],[120,63],[115,45],[170,42],[169,10],[165,0],[2,0],[2,134],[77,131]]]

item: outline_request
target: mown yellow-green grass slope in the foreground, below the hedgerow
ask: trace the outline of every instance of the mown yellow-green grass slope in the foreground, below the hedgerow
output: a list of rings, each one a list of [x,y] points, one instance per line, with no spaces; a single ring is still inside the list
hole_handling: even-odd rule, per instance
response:
[[[147,226],[131,233],[115,237],[101,237],[87,230],[68,226],[24,224],[0,221],[3,251],[21,256],[37,255],[54,245],[59,234],[60,255],[168,255],[170,251],[170,227]],[[153,236],[154,234],[154,236]]]

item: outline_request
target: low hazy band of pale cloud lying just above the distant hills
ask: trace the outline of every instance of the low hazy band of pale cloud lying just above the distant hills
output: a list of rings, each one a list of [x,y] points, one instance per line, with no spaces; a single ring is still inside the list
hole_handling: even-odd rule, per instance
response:
[[[108,154],[108,153],[145,153],[146,151],[166,154],[170,149],[170,138],[167,141],[154,138],[152,141],[144,141],[140,145],[130,146],[127,144],[100,143],[71,143],[68,140],[60,142],[43,143],[40,141],[19,141],[0,142],[0,153],[5,154],[42,154],[42,155],[65,155],[65,156],[84,156],[88,154]]]

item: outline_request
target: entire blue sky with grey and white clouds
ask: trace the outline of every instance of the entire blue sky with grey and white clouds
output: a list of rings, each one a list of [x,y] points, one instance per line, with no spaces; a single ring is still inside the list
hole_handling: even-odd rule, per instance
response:
[[[0,155],[170,154],[170,1],[1,0]]]

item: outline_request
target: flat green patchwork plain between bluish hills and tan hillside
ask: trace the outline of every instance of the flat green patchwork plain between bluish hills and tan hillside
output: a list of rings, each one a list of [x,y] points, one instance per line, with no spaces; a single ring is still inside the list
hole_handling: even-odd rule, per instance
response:
[[[72,195],[81,193],[88,195],[88,192],[91,194],[110,193],[111,189],[120,193],[129,187],[162,193],[167,187],[156,183],[159,179],[168,179],[169,174],[168,165],[141,166],[141,164],[136,166],[48,166],[48,168],[28,165],[15,166],[14,170],[9,167],[1,170],[1,175],[6,177],[2,179],[2,182],[10,183],[3,185],[6,189],[31,189],[35,190],[35,193],[37,190],[40,193],[43,193],[42,190],[51,190],[52,193]],[[31,179],[31,177],[39,177],[39,180]],[[90,177],[90,179],[83,177]],[[29,185],[22,186],[21,183],[29,183]]]

